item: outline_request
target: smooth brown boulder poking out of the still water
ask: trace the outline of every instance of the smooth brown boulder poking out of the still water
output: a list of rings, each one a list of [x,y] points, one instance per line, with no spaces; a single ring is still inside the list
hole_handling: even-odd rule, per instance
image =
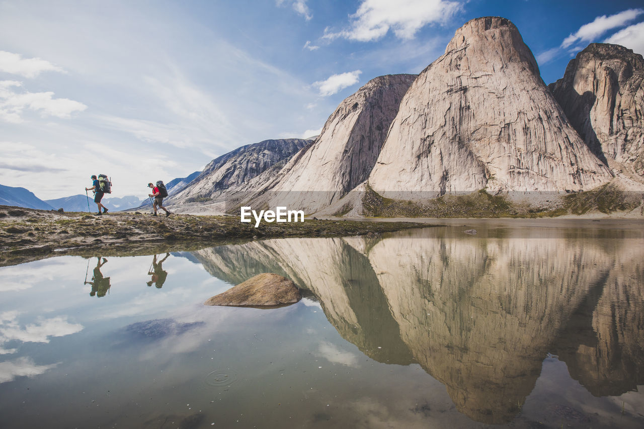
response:
[[[265,272],[231,289],[213,296],[205,305],[231,307],[275,307],[289,305],[302,299],[298,287],[289,279]]]

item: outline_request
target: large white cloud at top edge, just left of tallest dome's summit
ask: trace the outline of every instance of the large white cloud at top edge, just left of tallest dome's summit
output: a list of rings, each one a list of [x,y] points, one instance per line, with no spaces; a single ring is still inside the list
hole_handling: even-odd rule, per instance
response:
[[[457,1],[448,0],[364,0],[354,15],[351,26],[337,33],[325,30],[325,39],[374,41],[384,37],[389,30],[401,39],[412,39],[426,24],[442,23],[461,7]]]

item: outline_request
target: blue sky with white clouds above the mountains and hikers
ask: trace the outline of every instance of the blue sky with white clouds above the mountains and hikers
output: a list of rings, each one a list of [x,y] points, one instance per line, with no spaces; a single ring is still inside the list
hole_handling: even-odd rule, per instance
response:
[[[457,28],[516,24],[546,83],[592,42],[644,53],[641,1],[0,0],[0,184],[113,196],[267,138],[319,132],[384,74],[419,73]]]

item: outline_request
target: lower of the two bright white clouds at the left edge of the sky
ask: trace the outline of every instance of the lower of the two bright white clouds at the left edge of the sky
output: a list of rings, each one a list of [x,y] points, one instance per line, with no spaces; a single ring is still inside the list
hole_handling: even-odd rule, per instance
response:
[[[54,93],[48,92],[17,92],[22,82],[0,81],[0,120],[14,124],[24,122],[22,113],[25,109],[40,111],[43,116],[68,118],[75,111],[87,108],[81,102],[70,99],[55,99]]]

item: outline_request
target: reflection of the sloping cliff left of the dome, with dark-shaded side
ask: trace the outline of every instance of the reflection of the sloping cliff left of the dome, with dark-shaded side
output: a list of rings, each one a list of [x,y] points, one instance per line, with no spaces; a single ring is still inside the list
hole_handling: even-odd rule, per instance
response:
[[[319,298],[327,318],[343,338],[380,362],[413,361],[388,312],[377,276],[364,254],[344,238],[265,240],[213,247],[194,255],[205,269],[238,284],[261,272],[293,280]]]

